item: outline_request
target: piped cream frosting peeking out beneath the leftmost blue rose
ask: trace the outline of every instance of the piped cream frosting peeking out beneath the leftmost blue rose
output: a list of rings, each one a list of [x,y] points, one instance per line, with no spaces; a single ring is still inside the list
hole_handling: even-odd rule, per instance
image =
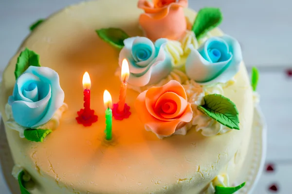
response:
[[[55,112],[53,117],[44,125],[38,126],[36,129],[56,129],[60,124],[60,119],[62,114],[68,109],[68,105],[63,103],[63,105]],[[5,106],[5,113],[7,116],[6,125],[10,129],[17,130],[19,132],[19,136],[24,138],[24,130],[27,129],[25,127],[20,126],[13,117],[12,107],[7,103]]]

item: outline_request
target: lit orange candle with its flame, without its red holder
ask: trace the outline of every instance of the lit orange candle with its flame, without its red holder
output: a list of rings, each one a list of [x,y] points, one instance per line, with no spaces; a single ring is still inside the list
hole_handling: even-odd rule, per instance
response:
[[[129,65],[127,59],[123,60],[122,70],[121,70],[121,88],[120,88],[120,96],[118,102],[118,112],[123,113],[125,109],[126,102],[126,94],[127,94],[127,86],[128,86],[128,78],[129,78]]]

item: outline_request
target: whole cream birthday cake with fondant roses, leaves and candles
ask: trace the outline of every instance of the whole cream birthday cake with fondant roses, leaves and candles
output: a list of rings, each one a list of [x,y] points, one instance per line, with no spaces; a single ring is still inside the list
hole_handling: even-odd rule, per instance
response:
[[[31,27],[0,87],[22,194],[244,190],[257,71],[218,8],[187,4],[88,1]]]

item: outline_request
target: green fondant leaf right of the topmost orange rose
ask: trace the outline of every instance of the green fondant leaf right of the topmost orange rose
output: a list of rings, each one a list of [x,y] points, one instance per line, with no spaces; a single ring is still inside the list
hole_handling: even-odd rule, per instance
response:
[[[223,16],[219,8],[206,7],[201,9],[192,27],[197,40],[202,38],[208,31],[217,27],[222,19]]]

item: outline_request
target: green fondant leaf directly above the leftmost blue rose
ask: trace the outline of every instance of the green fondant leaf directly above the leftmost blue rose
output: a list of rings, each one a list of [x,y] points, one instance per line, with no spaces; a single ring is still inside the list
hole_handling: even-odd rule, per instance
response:
[[[29,67],[29,66],[40,66],[39,55],[34,51],[25,48],[19,55],[15,67],[15,78],[18,77]]]

